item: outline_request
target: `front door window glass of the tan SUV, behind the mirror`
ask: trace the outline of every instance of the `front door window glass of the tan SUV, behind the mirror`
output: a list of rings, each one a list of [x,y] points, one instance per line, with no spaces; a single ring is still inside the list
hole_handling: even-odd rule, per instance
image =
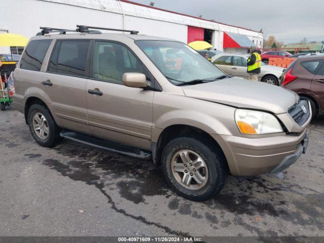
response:
[[[115,84],[123,84],[125,72],[139,72],[147,76],[146,69],[125,46],[118,43],[96,42],[93,76]]]

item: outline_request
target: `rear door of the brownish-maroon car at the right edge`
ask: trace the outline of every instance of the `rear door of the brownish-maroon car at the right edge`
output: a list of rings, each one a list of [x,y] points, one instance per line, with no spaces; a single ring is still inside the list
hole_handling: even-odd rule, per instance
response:
[[[324,61],[321,61],[321,66],[316,75],[312,79],[311,92],[316,97],[319,108],[324,111]]]

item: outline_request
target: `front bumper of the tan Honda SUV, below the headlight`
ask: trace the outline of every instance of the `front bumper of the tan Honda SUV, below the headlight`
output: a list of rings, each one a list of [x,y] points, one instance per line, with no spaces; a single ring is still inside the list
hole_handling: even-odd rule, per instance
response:
[[[308,131],[298,136],[245,138],[214,135],[224,151],[233,176],[256,176],[285,170],[306,151]]]

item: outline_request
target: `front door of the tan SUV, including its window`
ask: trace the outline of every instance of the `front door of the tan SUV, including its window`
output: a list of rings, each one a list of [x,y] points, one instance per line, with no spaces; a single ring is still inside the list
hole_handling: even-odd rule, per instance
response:
[[[122,44],[95,41],[86,86],[88,122],[94,136],[150,149],[154,92],[124,86],[125,72],[144,73],[145,66]],[[93,92],[94,91],[94,92]]]

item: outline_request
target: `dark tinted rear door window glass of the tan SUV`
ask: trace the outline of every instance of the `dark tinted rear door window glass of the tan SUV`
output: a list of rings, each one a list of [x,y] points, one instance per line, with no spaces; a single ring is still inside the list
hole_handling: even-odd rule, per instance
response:
[[[59,41],[52,53],[48,71],[86,76],[90,41]]]

